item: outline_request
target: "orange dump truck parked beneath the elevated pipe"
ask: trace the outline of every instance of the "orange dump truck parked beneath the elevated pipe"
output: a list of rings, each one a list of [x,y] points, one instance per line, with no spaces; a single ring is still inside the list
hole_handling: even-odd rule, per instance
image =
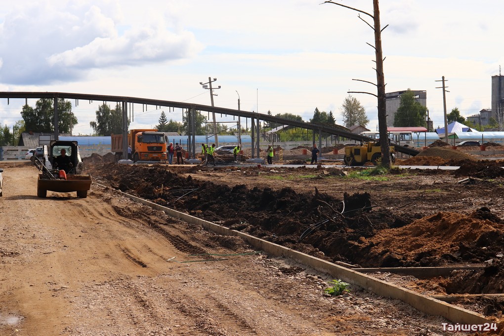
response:
[[[122,158],[122,135],[111,135],[111,150],[115,160]],[[162,161],[166,160],[166,136],[157,129],[130,129],[128,145],[132,148],[132,160]]]

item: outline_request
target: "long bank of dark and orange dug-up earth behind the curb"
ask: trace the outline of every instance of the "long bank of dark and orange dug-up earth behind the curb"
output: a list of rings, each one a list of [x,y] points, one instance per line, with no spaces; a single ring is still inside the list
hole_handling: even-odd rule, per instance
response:
[[[91,171],[115,189],[332,262],[361,267],[483,264],[502,256],[504,246],[504,222],[485,207],[469,215],[422,217],[374,208],[366,192],[338,199],[317,190],[226,186],[183,178],[163,165],[95,163]],[[470,161],[456,174],[495,178],[503,172],[497,165]],[[438,283],[447,294],[504,293],[502,280],[504,267],[495,260],[483,270],[457,271]],[[485,300],[491,300],[489,314],[504,310],[500,298]]]

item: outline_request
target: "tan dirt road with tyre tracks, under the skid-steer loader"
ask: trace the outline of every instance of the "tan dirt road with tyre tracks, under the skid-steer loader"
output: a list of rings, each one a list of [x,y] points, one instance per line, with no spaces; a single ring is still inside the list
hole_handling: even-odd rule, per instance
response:
[[[34,167],[0,167],[0,335],[423,335],[447,322],[358,288],[327,297],[327,276],[112,189],[37,198]]]

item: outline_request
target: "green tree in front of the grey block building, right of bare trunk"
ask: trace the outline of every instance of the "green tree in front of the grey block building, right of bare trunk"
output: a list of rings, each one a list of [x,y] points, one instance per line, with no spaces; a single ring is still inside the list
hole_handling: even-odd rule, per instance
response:
[[[427,108],[415,100],[415,94],[408,89],[401,95],[401,103],[394,117],[396,127],[425,126]]]

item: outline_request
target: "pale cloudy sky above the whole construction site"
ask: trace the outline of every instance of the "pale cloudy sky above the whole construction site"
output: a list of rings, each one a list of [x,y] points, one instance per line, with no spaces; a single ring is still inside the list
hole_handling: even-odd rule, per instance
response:
[[[371,0],[335,0],[372,13]],[[210,105],[199,85],[217,78],[215,105],[266,113],[333,111],[347,91],[375,92],[373,32],[357,12],[321,0],[18,0],[0,7],[0,91],[132,96]],[[496,0],[382,0],[387,92],[426,90],[434,126],[447,109],[464,116],[491,105],[491,76],[504,66]],[[361,18],[371,23],[370,18]],[[376,99],[354,94],[376,129]],[[0,123],[24,100],[0,100]],[[35,106],[35,100],[28,101]],[[74,133],[90,134],[97,105],[74,107]],[[137,108],[135,109],[138,110]],[[181,111],[164,109],[181,120]],[[161,110],[130,127],[155,126]],[[218,121],[229,121],[225,118]]]

